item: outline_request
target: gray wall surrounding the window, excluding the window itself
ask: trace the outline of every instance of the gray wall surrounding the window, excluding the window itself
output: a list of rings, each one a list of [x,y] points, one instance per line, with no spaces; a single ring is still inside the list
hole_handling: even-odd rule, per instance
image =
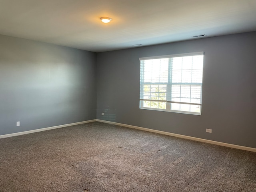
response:
[[[201,116],[139,109],[140,57],[198,51]],[[97,118],[256,148],[256,32],[97,54]]]

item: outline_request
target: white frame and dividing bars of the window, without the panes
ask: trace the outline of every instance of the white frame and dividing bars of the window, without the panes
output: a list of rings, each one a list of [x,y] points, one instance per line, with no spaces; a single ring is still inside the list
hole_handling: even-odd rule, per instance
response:
[[[174,58],[174,57],[183,57],[183,56],[196,56],[196,55],[204,55],[204,52],[193,52],[193,53],[185,53],[185,54],[172,54],[172,55],[163,55],[163,56],[153,56],[153,57],[142,57],[139,58],[140,61],[142,60],[152,60],[152,59],[161,59],[161,58]],[[140,71],[142,66],[140,66]],[[175,113],[183,113],[183,114],[194,114],[194,115],[201,115],[202,114],[202,82],[201,83],[173,83],[170,82],[171,78],[171,71],[170,71],[170,64],[169,64],[169,72],[168,72],[168,83],[161,83],[161,82],[156,82],[156,83],[144,83],[142,82],[142,79],[140,79],[140,109],[146,109],[146,110],[157,110],[157,111],[167,111],[167,112],[175,112]],[[140,75],[141,78],[141,75]],[[150,84],[150,85],[159,85],[159,84],[163,84],[166,85],[166,98],[171,98],[171,92],[172,92],[172,85],[200,85],[201,86],[201,97],[200,97],[200,103],[186,103],[186,102],[174,102],[174,101],[170,101],[170,99],[168,100],[149,100],[149,99],[143,99],[142,98],[142,93],[143,93],[143,87],[145,84]],[[144,101],[155,101],[155,102],[166,102],[166,109],[159,109],[159,108],[150,108],[150,107],[143,107],[143,102]],[[171,103],[178,103],[178,104],[190,104],[190,105],[197,105],[200,106],[200,112],[190,112],[190,111],[182,111],[182,110],[171,110]]]

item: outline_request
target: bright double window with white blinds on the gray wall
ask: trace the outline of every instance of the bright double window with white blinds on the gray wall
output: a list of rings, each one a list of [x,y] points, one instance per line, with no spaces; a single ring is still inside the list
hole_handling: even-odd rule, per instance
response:
[[[201,114],[204,52],[140,58],[140,108]]]

